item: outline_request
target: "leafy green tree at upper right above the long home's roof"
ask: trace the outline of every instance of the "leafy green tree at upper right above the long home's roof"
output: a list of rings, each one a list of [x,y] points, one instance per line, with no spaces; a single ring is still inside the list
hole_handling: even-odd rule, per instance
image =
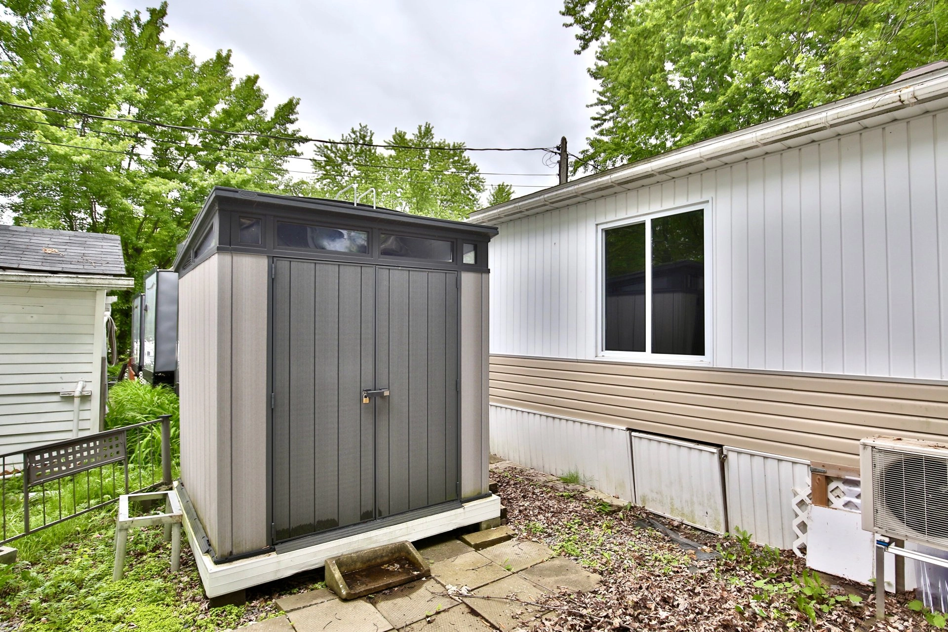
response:
[[[600,42],[585,160],[611,167],[843,99],[948,57],[933,0],[566,0]],[[939,38],[939,32],[941,34]]]

